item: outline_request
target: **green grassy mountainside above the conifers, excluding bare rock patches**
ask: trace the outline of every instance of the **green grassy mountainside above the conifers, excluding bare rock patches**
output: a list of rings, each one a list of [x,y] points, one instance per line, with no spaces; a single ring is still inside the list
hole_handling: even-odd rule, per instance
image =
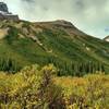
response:
[[[1,24],[2,27],[8,26],[10,29],[7,37],[0,39],[0,57],[14,59],[22,68],[34,63],[40,65],[55,63],[58,69],[65,69],[65,64],[70,66],[72,62],[85,63],[93,61],[102,63],[108,73],[109,44],[104,40],[90,36],[69,35],[66,33],[68,28],[58,28],[55,25],[48,27],[43,24],[35,25],[22,21],[23,25],[17,28],[15,22],[2,22]],[[36,31],[33,31],[31,25],[34,25]],[[37,26],[43,29],[41,33],[36,33]],[[29,33],[23,32],[23,27]],[[24,38],[19,37],[19,34],[23,35]],[[43,46],[39,46],[31,36],[37,37]],[[87,47],[89,50],[86,49]],[[69,71],[66,72],[69,74]]]

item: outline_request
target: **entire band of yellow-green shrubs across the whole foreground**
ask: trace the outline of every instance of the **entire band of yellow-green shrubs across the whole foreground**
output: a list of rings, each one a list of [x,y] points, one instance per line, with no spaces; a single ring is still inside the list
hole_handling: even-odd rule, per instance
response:
[[[52,64],[0,72],[0,109],[109,109],[109,75],[56,75]]]

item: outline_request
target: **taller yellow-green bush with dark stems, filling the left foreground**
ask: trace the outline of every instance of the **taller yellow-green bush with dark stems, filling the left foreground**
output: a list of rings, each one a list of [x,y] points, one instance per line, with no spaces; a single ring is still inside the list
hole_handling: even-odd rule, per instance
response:
[[[0,109],[58,109],[62,106],[61,88],[53,84],[55,75],[52,65],[41,70],[32,65],[16,74],[1,72]]]

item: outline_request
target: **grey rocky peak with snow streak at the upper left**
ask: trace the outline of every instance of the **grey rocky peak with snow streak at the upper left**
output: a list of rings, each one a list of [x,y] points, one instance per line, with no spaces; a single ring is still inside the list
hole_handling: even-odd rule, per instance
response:
[[[7,3],[0,2],[0,20],[19,21],[19,16],[9,12]]]

